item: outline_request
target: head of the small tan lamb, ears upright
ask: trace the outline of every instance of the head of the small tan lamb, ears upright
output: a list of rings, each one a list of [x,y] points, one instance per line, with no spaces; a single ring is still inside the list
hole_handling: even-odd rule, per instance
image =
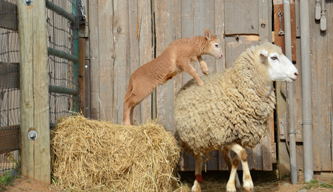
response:
[[[221,59],[222,49],[219,38],[217,38],[217,36],[212,36],[212,34],[210,34],[210,30],[208,29],[205,29],[205,38],[208,42],[205,47],[206,54],[213,56],[214,58]]]

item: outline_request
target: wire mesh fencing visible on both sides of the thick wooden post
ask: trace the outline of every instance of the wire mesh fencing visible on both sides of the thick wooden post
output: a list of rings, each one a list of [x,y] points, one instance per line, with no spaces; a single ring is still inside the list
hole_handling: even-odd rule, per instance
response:
[[[49,53],[49,112],[52,127],[58,119],[71,115],[71,111],[79,111],[78,27],[81,1],[45,2]],[[10,183],[20,172],[18,48],[16,0],[0,0],[0,185]]]

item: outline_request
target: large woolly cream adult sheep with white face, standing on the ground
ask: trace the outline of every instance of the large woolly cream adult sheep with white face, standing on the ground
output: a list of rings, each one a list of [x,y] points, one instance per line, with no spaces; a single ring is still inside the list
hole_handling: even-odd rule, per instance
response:
[[[291,83],[297,75],[280,47],[265,43],[244,51],[231,69],[202,78],[204,86],[191,80],[181,88],[174,117],[182,147],[195,155],[192,191],[201,191],[202,155],[213,150],[223,151],[230,171],[227,191],[240,189],[236,173],[239,160],[244,188],[253,191],[244,147],[255,147],[267,132],[275,105],[273,81]],[[230,150],[235,152],[233,158]]]

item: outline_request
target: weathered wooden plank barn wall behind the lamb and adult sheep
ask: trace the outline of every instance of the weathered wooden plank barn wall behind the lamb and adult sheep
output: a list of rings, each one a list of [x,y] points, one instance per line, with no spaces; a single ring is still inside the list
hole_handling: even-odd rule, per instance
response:
[[[223,47],[221,60],[203,57],[210,73],[232,66],[245,49],[271,41],[271,9],[272,2],[267,0],[251,1],[247,6],[241,0],[89,0],[91,117],[122,123],[123,97],[130,75],[159,56],[173,40],[203,36],[206,28],[221,39]],[[199,64],[194,67],[203,75]],[[191,78],[184,72],[159,86],[135,108],[135,125],[157,117],[177,136],[174,98]],[[273,117],[270,124],[262,143],[247,149],[250,169],[272,170],[276,163]],[[207,170],[227,170],[220,152],[211,152],[210,157],[212,160],[205,165]],[[194,168],[194,158],[183,154],[180,170]]]

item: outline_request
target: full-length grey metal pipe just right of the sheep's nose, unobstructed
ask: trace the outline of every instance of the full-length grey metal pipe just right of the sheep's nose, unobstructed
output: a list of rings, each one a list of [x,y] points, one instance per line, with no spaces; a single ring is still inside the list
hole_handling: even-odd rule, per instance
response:
[[[299,1],[301,15],[301,96],[303,108],[304,180],[313,180],[312,102],[310,65],[310,10],[309,1]]]

